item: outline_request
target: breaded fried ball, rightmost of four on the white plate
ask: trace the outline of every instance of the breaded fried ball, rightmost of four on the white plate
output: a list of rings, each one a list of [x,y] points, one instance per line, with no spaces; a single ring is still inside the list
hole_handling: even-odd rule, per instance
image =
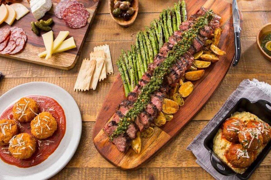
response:
[[[31,133],[38,139],[46,139],[54,134],[57,129],[55,118],[43,111],[31,121]]]

